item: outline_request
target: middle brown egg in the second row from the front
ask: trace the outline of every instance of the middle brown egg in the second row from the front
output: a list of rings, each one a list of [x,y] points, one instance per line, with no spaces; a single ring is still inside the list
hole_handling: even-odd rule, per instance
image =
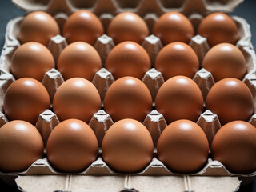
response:
[[[150,90],[138,78],[119,78],[106,91],[104,110],[114,122],[122,118],[142,122],[152,110]]]

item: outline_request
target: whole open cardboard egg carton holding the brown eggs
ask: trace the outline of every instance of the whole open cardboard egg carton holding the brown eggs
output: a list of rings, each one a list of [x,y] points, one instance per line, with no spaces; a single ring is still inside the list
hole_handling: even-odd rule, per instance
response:
[[[80,9],[86,9],[98,15],[105,29],[110,23],[114,15],[123,11],[132,11],[142,16],[147,25],[152,30],[154,23],[158,17],[168,11],[178,11],[185,14],[193,23],[195,29],[198,24],[207,15],[215,11],[230,13],[234,7],[238,6],[242,0],[42,0],[40,3],[36,0],[12,0],[15,5],[21,7],[27,12],[34,10],[43,10],[54,16],[59,26],[63,26],[70,14]],[[0,110],[2,111],[3,97],[6,89],[15,81],[10,74],[10,60],[14,51],[20,46],[17,40],[17,33],[20,23],[24,17],[18,17],[10,20],[6,27],[6,42],[0,57]],[[243,82],[250,88],[256,98],[256,57],[253,46],[250,42],[250,26],[246,20],[239,17],[232,17],[238,26],[240,39],[237,42],[238,48],[246,58],[247,74]],[[51,38],[49,50],[54,55],[55,61],[58,60],[59,54],[67,46],[66,39],[61,35]],[[154,60],[158,52],[162,49],[162,43],[159,38],[150,35],[142,42],[142,46],[150,55],[152,68],[146,72],[142,81],[149,88],[152,98],[154,99],[158,89],[162,86],[164,79],[162,74],[154,69]],[[190,41],[190,46],[198,55],[200,63],[206,52],[210,49],[206,38],[196,35]],[[93,79],[93,84],[98,89],[100,96],[103,98],[106,90],[114,82],[112,74],[107,71],[104,66],[106,57],[110,50],[114,47],[112,38],[106,34],[98,38],[94,45],[102,58],[102,69],[99,70]],[[201,68],[201,67],[200,67]],[[214,85],[214,78],[205,69],[200,69],[194,75],[194,82],[198,84],[202,90],[205,100],[211,86]],[[64,82],[62,74],[56,69],[46,72],[42,84],[46,86],[50,94],[51,101],[54,93]],[[256,103],[256,102],[254,102]],[[0,126],[8,122],[5,114],[0,112]],[[256,126],[256,115],[254,114],[249,121]],[[36,127],[38,128],[44,143],[54,126],[58,125],[58,117],[52,110],[46,110],[38,117]],[[214,134],[221,127],[216,114],[212,114],[210,110],[206,110],[198,118],[198,125],[205,131],[206,136],[211,143]],[[99,110],[91,118],[89,125],[94,130],[101,145],[102,138],[106,130],[113,124],[109,114],[104,110]],[[162,130],[166,127],[166,121],[162,114],[152,110],[148,114],[143,124],[150,131],[154,141],[154,146],[158,142],[158,138]],[[156,152],[156,150],[154,150]],[[210,155],[209,155],[210,157]],[[138,174],[119,174],[110,169],[102,159],[101,150],[99,149],[98,158],[82,173],[66,174],[60,173],[47,161],[47,158],[38,159],[27,170],[19,173],[1,173],[0,178],[6,182],[16,183],[22,191],[234,191],[238,190],[240,180],[248,182],[252,180],[256,172],[251,174],[232,174],[218,161],[208,159],[206,165],[194,174],[177,174],[173,173],[158,161],[157,154],[145,170]],[[203,177],[202,177],[203,176]],[[17,178],[18,177],[18,178]],[[100,183],[100,185],[98,185]],[[135,190],[132,190],[132,189]],[[127,190],[128,189],[128,190]],[[210,189],[210,190],[209,190]]]

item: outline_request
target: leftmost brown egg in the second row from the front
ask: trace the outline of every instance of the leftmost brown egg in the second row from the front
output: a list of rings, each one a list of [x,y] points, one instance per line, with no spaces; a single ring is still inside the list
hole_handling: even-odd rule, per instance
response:
[[[34,78],[19,78],[6,90],[3,110],[9,120],[24,120],[35,125],[39,114],[49,108],[50,96]]]

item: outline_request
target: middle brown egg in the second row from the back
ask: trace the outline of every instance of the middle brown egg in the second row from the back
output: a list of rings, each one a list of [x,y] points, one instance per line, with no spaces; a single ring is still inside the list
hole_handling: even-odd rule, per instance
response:
[[[109,70],[115,79],[124,76],[142,79],[150,67],[150,56],[136,42],[122,42],[114,46],[106,58],[106,70]]]

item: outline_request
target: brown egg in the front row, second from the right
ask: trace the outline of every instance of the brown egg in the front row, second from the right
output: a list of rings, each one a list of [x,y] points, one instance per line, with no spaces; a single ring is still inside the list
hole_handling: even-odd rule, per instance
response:
[[[196,123],[178,120],[162,131],[158,140],[158,159],[171,171],[194,173],[206,164],[209,144],[206,134]]]

